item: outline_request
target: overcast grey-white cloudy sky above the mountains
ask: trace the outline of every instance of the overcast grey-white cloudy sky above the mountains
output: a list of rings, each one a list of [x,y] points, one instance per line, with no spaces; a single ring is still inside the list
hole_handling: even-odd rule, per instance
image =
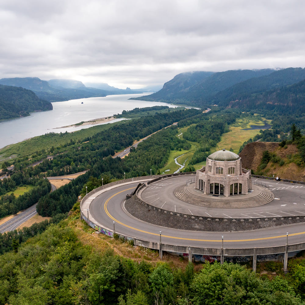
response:
[[[302,0],[0,3],[0,78],[140,88],[185,71],[305,66]]]

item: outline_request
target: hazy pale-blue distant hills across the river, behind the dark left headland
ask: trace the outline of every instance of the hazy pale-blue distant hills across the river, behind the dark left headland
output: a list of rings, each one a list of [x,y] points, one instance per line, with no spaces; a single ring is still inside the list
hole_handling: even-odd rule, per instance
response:
[[[0,84],[32,90],[39,98],[45,99],[48,102],[67,101],[70,99],[84,99],[89,97],[100,97],[113,94],[130,94],[143,92],[132,91],[129,88],[125,90],[114,88],[112,91],[101,90],[98,88],[86,87],[81,81],[66,79],[52,79],[50,81],[42,81],[38,77],[2,78],[0,79]]]

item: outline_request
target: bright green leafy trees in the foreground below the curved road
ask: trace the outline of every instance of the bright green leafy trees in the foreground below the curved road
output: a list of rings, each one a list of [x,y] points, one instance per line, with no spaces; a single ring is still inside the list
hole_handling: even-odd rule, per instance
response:
[[[304,304],[301,260],[289,261],[289,274],[272,280],[226,262],[206,263],[196,272],[193,264],[181,269],[131,260],[110,246],[83,244],[72,224],[51,224],[0,256],[1,304]],[[277,268],[272,263],[270,270]]]

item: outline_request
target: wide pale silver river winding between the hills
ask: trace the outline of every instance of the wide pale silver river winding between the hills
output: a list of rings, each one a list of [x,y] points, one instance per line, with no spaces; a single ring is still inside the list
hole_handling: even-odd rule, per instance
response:
[[[131,97],[142,95],[145,95],[145,93],[108,95],[105,97],[54,102],[52,103],[53,110],[34,112],[28,117],[1,121],[0,148],[38,135],[44,135],[48,132],[70,132],[88,128],[92,125],[65,128],[58,127],[76,124],[81,121],[113,116],[113,114],[122,113],[123,110],[152,106],[175,107],[174,105],[160,102],[128,100]],[[83,102],[83,104],[81,102]],[[112,120],[111,122],[113,123],[118,120],[121,119]]]

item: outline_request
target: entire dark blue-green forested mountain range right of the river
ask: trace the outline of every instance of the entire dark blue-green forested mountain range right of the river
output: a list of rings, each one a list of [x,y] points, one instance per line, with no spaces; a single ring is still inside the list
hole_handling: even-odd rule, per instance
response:
[[[189,87],[184,85],[185,78],[181,75],[165,83],[162,90],[135,99],[171,101],[198,107],[216,104],[246,111],[278,109],[282,113],[285,106],[292,107],[289,113],[304,111],[304,68],[229,70],[214,73]],[[170,90],[166,90],[168,84],[171,84]]]

